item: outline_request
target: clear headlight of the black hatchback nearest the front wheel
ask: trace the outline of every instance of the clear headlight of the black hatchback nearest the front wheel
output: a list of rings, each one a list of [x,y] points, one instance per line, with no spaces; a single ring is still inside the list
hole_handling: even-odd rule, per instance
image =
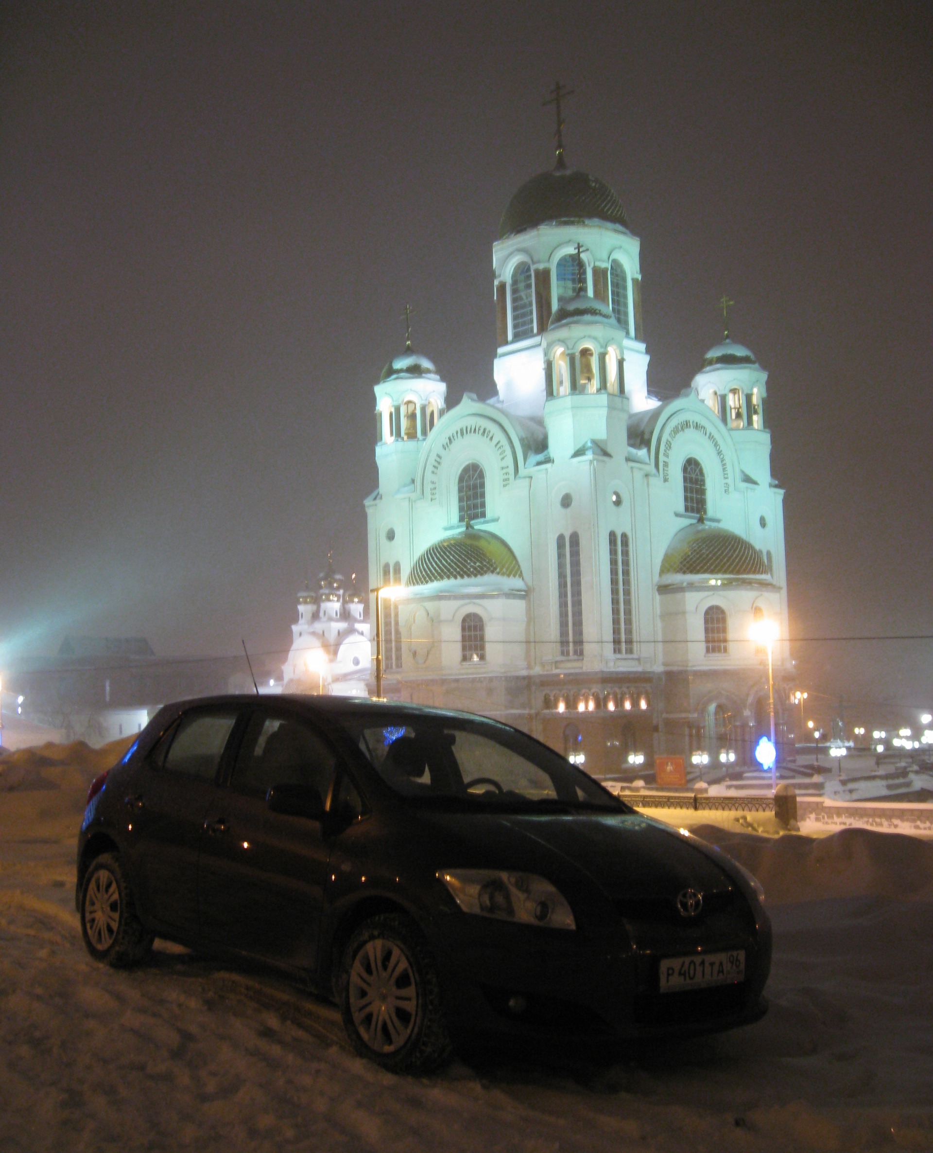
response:
[[[452,868],[441,869],[438,876],[464,913],[552,929],[577,927],[563,896],[549,881],[533,873]]]

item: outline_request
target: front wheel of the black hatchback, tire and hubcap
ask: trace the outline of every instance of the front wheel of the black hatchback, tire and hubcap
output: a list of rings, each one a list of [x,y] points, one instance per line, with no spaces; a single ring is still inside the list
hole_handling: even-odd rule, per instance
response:
[[[361,1056],[397,1073],[426,1073],[449,1061],[438,970],[411,918],[384,913],[357,927],[343,950],[336,994]]]

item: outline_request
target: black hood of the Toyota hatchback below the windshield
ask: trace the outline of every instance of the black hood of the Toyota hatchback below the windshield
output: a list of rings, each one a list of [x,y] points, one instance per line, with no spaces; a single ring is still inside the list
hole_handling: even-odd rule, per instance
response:
[[[432,814],[430,821],[448,846],[447,868],[518,869],[555,883],[562,874],[583,872],[614,900],[733,888],[690,838],[638,815],[470,813]]]

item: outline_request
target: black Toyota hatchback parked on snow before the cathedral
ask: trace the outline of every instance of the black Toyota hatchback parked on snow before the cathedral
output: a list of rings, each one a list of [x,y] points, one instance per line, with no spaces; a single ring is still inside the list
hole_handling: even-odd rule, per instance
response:
[[[356,1049],[426,1070],[457,1038],[635,1038],[758,1019],[757,881],[508,725],[334,698],[167,706],[91,786],[91,956],[156,936],[333,995]]]

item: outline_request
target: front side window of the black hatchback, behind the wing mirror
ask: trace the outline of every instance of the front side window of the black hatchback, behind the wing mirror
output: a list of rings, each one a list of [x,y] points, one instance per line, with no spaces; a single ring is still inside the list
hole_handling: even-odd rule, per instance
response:
[[[230,786],[265,797],[273,785],[311,785],[326,804],[335,771],[336,754],[311,725],[263,710],[240,746]]]

